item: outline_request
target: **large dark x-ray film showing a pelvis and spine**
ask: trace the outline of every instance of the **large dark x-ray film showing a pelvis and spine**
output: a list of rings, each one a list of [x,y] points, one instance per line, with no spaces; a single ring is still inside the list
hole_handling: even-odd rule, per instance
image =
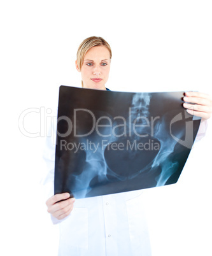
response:
[[[60,86],[55,194],[78,199],[176,183],[201,122],[183,96]]]

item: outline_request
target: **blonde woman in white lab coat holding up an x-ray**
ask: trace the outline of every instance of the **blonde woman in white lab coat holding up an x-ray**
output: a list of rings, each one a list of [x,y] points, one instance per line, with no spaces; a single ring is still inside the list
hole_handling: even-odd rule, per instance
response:
[[[76,69],[83,88],[108,90],[111,57],[110,45],[102,38],[90,37],[81,43]],[[211,116],[207,94],[187,92],[184,101],[188,113],[205,119]],[[59,255],[151,255],[141,194],[137,190],[76,202],[68,193],[50,197],[48,213],[53,223],[60,222]]]

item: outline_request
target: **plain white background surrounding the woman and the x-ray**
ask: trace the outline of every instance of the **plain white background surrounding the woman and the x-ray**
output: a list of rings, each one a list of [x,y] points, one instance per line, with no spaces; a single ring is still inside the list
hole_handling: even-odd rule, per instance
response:
[[[80,87],[81,41],[110,43],[111,90],[211,94],[211,13],[204,0],[1,1],[1,255],[57,255],[57,226],[39,185],[45,130],[24,136],[18,118],[29,108],[57,108],[60,85]],[[39,132],[41,122],[39,113],[27,115],[25,129]],[[211,131],[176,185],[146,190],[153,256],[212,255]]]

